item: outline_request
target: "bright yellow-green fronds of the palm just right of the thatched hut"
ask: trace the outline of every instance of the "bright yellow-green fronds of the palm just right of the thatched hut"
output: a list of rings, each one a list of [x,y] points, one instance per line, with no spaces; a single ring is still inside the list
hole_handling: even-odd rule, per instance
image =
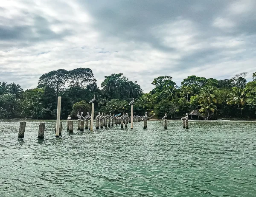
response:
[[[199,94],[199,103],[218,103],[218,91],[215,87],[206,85],[205,87],[201,88],[201,93]]]

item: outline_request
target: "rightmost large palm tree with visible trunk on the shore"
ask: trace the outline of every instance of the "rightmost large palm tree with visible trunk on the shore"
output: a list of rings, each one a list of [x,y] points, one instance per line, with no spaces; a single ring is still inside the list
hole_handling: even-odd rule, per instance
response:
[[[227,104],[238,105],[238,109],[241,111],[242,116],[242,107],[246,102],[246,96],[244,89],[235,87],[233,90],[227,95],[229,98],[227,99]]]

